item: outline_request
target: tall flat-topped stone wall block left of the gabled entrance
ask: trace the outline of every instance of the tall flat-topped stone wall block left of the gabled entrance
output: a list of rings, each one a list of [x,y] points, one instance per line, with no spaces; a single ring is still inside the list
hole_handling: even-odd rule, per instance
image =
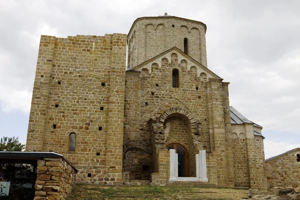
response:
[[[125,34],[42,35],[26,151],[63,154],[78,182],[122,184],[125,55]]]

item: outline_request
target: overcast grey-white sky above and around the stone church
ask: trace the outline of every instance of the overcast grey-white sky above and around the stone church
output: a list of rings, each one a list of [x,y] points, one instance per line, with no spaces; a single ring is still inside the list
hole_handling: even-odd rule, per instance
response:
[[[0,0],[0,137],[26,141],[41,34],[127,33],[141,16],[207,25],[208,68],[263,126],[265,157],[300,147],[299,0]]]

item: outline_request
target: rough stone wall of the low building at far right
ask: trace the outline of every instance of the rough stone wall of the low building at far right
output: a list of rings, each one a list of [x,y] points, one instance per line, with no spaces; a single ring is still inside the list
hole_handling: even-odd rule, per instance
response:
[[[300,185],[300,161],[297,161],[297,154],[300,154],[299,149],[265,161],[268,189]]]

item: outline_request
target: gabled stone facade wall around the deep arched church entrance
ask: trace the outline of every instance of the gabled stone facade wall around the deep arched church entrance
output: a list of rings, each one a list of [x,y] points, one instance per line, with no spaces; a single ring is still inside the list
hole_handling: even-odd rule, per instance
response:
[[[198,66],[193,66],[191,60],[186,57],[182,58],[181,54],[176,51],[167,52],[166,55],[162,55],[156,60],[150,64],[150,67],[144,68],[146,66],[140,66],[139,69],[135,69],[139,70],[140,73],[136,71],[126,71],[124,113],[125,121],[127,122],[125,122],[124,125],[124,144],[132,144],[137,140],[138,142],[136,143],[139,144],[135,145],[138,145],[139,148],[144,150],[152,149],[153,140],[148,140],[147,138],[154,137],[154,141],[159,140],[159,142],[155,144],[154,155],[152,155],[152,158],[156,157],[156,160],[158,159],[158,150],[165,149],[169,143],[177,142],[183,146],[192,146],[191,144],[193,144],[193,148],[186,148],[187,151],[194,151],[189,152],[190,173],[192,173],[192,171],[194,171],[193,168],[195,168],[193,161],[195,153],[204,147],[209,152],[207,154],[207,166],[209,167],[207,168],[207,174],[209,176],[209,182],[222,186],[233,186],[233,163],[231,165],[227,163],[228,149],[226,137],[228,130],[225,130],[225,124],[230,124],[230,118],[228,120],[228,113],[226,113],[225,116],[223,111],[224,108],[229,108],[227,84],[223,84],[221,79],[216,81],[218,78],[213,79],[213,81],[217,83],[210,83],[211,76],[213,76],[212,74],[209,74],[208,71]],[[173,68],[179,70],[179,87],[177,88],[172,87]],[[207,88],[208,86],[209,90]],[[127,92],[129,93],[127,94]],[[209,103],[211,99],[216,101],[213,106]],[[190,124],[185,122],[187,117],[181,113],[170,116],[169,119],[164,121],[165,125],[166,122],[173,120],[169,131],[166,131],[166,127],[162,127],[159,131],[155,129],[156,132],[151,130],[151,128],[156,127],[160,114],[167,109],[174,108],[181,108],[195,114],[201,121],[198,135],[188,131]],[[215,112],[214,110],[218,111],[215,116],[211,114]],[[132,121],[130,120],[131,117]],[[150,119],[152,120],[151,127],[149,127]],[[187,128],[176,130],[175,128],[180,126],[179,124],[181,124],[182,121],[184,121]],[[221,124],[221,121],[223,121],[222,125],[213,130],[212,124]],[[222,133],[220,133],[221,140],[216,143],[215,133],[220,132],[222,128]],[[151,131],[152,135],[149,135]],[[161,134],[159,133],[160,131]],[[223,147],[217,151],[213,150],[215,146],[217,146],[216,144],[220,142],[222,142],[221,145]],[[231,160],[228,159],[228,161],[233,162],[232,156]],[[227,166],[231,167],[230,173],[232,174],[229,173],[229,178],[227,177]],[[153,170],[153,172],[158,172],[158,170]],[[155,176],[155,174],[153,175]],[[195,175],[194,172],[191,175]],[[219,180],[221,180],[221,182],[217,182]]]

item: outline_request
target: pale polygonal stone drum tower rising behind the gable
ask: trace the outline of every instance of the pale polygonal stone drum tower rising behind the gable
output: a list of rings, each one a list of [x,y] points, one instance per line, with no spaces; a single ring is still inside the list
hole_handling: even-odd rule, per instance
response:
[[[179,17],[138,18],[128,33],[128,64],[134,67],[173,46],[184,51],[186,37],[187,54],[207,67],[205,31],[205,24]]]

